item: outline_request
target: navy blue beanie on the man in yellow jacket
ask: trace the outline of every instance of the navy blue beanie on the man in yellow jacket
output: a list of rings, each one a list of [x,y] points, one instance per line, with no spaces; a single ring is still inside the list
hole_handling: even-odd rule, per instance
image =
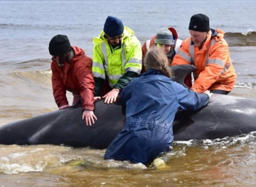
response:
[[[107,36],[119,36],[124,32],[124,25],[119,18],[107,16],[103,31]]]

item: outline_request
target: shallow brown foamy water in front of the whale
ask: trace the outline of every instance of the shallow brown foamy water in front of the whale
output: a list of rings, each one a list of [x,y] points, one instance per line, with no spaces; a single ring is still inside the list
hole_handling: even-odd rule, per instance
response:
[[[2,173],[0,181],[1,186],[251,186],[256,182],[255,143],[254,134],[176,142],[174,151],[162,156],[163,169],[103,161],[105,150],[0,146],[0,171],[10,172]]]

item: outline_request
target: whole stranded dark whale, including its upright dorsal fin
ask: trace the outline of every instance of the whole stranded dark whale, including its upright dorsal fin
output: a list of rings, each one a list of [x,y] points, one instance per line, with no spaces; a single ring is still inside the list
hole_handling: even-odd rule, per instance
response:
[[[183,80],[195,68],[171,66],[173,80]],[[0,144],[56,144],[105,149],[124,125],[124,109],[116,102],[95,102],[97,120],[87,126],[81,105],[41,114],[0,126]],[[256,131],[256,100],[213,94],[206,107],[196,112],[178,110],[174,141],[234,137]]]

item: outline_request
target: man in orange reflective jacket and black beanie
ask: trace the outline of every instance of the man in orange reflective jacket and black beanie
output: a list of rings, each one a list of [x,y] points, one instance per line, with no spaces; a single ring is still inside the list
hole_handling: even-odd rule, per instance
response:
[[[196,14],[191,16],[188,26],[190,38],[174,56],[171,65],[190,64],[196,66],[194,84],[195,92],[210,92],[228,95],[233,90],[236,80],[235,68],[230,59],[228,43],[224,32],[210,28],[208,16]]]

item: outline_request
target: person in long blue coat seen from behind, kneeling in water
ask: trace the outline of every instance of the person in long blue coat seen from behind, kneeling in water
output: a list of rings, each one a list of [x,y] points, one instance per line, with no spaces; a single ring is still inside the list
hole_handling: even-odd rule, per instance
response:
[[[126,105],[122,131],[107,147],[105,159],[149,164],[160,153],[171,151],[172,124],[179,107],[197,110],[208,104],[210,91],[196,93],[171,80],[164,50],[151,48],[145,58],[146,72],[123,88]]]

